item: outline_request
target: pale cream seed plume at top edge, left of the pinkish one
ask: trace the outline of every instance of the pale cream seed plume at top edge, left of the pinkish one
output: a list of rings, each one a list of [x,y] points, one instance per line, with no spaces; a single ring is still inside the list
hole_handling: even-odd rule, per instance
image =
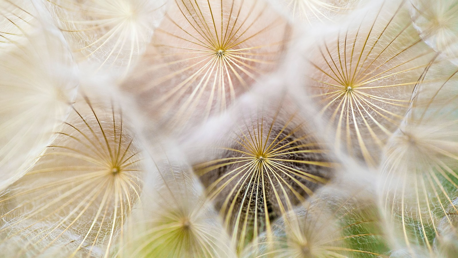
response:
[[[134,66],[164,17],[164,0],[44,0],[79,61]],[[87,64],[86,64],[87,65]]]

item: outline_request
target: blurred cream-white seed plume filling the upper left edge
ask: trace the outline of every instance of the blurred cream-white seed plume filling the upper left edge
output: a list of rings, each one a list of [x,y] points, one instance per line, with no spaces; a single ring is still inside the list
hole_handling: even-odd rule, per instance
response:
[[[70,112],[76,69],[60,32],[28,1],[0,1],[0,189],[35,162]],[[1,34],[1,33],[0,33]]]

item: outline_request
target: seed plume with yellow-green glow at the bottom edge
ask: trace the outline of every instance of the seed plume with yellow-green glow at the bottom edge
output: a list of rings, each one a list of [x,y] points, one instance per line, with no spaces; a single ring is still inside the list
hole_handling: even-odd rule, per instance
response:
[[[190,168],[164,161],[126,225],[120,257],[235,257]]]

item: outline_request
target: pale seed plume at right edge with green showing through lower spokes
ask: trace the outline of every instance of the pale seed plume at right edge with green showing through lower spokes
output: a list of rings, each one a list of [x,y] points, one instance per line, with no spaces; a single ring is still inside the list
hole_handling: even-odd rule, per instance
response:
[[[436,83],[428,83],[435,75],[425,74],[388,144],[382,204],[389,218],[399,222],[398,233],[408,248],[420,244],[433,252],[436,236],[450,237],[458,227],[456,73]]]

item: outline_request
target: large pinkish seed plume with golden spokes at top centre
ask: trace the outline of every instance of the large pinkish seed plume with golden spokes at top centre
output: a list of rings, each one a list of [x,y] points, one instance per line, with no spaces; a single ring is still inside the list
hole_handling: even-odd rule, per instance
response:
[[[273,70],[288,36],[263,0],[175,0],[122,88],[163,129],[189,130]]]

